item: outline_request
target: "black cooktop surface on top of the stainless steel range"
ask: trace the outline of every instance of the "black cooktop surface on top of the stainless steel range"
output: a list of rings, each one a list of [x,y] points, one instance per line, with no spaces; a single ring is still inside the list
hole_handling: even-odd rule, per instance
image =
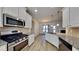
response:
[[[22,33],[15,33],[15,34],[2,35],[1,39],[8,43],[12,43],[16,40],[22,39],[24,36],[25,35]]]

